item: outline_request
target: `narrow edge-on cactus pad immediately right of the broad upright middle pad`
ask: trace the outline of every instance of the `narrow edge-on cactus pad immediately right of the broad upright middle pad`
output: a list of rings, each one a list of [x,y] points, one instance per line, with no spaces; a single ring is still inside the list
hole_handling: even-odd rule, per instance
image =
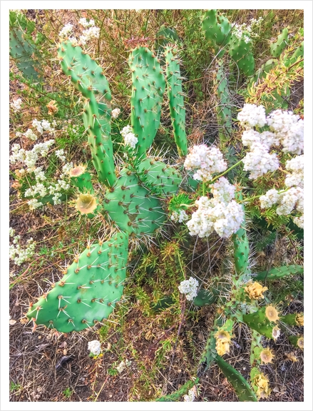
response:
[[[170,117],[172,118],[175,143],[180,157],[188,153],[185,131],[186,110],[182,89],[182,77],[175,46],[165,47],[166,85],[170,101]]]

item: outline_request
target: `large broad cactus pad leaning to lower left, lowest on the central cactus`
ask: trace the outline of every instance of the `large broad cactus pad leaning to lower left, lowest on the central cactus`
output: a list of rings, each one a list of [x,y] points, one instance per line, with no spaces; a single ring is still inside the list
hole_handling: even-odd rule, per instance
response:
[[[27,317],[62,333],[81,331],[108,318],[123,295],[127,258],[128,233],[88,245],[62,280],[29,308]]]

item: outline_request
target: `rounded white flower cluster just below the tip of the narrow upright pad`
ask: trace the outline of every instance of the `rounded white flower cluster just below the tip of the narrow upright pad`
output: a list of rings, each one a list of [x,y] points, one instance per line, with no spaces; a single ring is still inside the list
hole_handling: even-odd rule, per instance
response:
[[[218,148],[200,144],[189,149],[184,167],[186,170],[197,170],[193,175],[195,180],[210,181],[212,174],[226,170],[227,163]]]

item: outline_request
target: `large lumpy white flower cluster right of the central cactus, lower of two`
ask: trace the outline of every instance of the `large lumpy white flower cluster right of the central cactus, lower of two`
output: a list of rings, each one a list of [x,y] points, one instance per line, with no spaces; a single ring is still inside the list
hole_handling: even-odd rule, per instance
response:
[[[197,211],[187,223],[190,235],[203,238],[215,230],[221,238],[229,238],[240,228],[244,212],[241,205],[232,200],[235,191],[229,187],[230,184],[227,186],[223,181],[215,183],[214,186],[214,198],[200,197],[195,202]]]

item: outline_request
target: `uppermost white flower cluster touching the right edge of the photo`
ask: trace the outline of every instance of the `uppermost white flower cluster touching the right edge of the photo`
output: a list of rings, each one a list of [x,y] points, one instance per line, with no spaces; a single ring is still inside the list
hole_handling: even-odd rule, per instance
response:
[[[267,124],[284,148],[284,153],[302,154],[304,121],[292,111],[275,110],[267,117]]]

